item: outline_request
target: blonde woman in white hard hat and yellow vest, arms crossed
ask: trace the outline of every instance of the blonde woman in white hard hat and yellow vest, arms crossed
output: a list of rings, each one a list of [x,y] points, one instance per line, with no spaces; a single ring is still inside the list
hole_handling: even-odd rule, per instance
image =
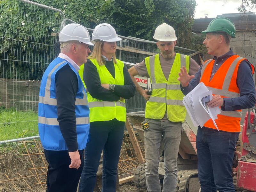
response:
[[[107,23],[92,32],[95,46],[79,75],[84,80],[90,108],[90,142],[85,148],[84,169],[79,192],[93,192],[103,150],[102,191],[116,191],[117,164],[124,135],[124,99],[135,94],[135,85],[116,59],[116,42],[121,38]]]

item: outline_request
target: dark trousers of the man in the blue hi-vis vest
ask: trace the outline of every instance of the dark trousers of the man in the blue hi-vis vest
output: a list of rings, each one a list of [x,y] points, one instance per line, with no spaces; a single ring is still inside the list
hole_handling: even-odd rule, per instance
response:
[[[71,159],[68,151],[50,151],[44,149],[49,163],[46,192],[76,192],[84,166],[84,150],[79,150],[81,165],[79,169],[70,169]]]

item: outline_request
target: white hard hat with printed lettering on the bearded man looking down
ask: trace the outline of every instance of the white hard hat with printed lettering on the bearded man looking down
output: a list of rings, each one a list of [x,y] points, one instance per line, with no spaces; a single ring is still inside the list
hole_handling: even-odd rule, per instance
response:
[[[158,41],[177,40],[174,28],[166,23],[163,23],[156,28],[153,38]]]

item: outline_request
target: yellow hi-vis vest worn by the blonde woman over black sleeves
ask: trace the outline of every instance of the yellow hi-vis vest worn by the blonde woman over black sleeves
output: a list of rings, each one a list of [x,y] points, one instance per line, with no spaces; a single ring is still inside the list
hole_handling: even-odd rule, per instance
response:
[[[117,63],[114,63],[115,66],[115,79],[109,73],[105,65],[99,65],[96,59],[90,59],[92,63],[96,66],[97,71],[100,76],[101,84],[116,84],[124,85],[124,63],[120,60],[116,60]],[[84,64],[80,66],[78,71],[83,83],[83,73],[84,73]],[[86,85],[84,84],[86,88]],[[86,89],[87,90],[87,89]],[[87,100],[90,108],[90,122],[94,121],[110,121],[116,118],[118,121],[124,121],[126,118],[126,108],[125,101],[103,101],[93,98],[88,91],[86,91]]]

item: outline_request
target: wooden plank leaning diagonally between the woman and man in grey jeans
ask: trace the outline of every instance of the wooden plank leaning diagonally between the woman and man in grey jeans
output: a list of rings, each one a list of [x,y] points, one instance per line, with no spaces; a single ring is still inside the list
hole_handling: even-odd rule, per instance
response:
[[[131,125],[131,122],[130,122],[128,116],[126,116],[125,127],[126,127],[127,132],[130,136],[130,140],[132,141],[132,146],[133,146],[133,148],[135,150],[135,153],[138,157],[139,163],[145,163],[144,158],[143,158],[142,153],[141,153],[141,150],[140,150],[139,142],[138,142],[138,140],[136,138],[136,135],[133,131],[133,128],[132,128],[132,125]]]

